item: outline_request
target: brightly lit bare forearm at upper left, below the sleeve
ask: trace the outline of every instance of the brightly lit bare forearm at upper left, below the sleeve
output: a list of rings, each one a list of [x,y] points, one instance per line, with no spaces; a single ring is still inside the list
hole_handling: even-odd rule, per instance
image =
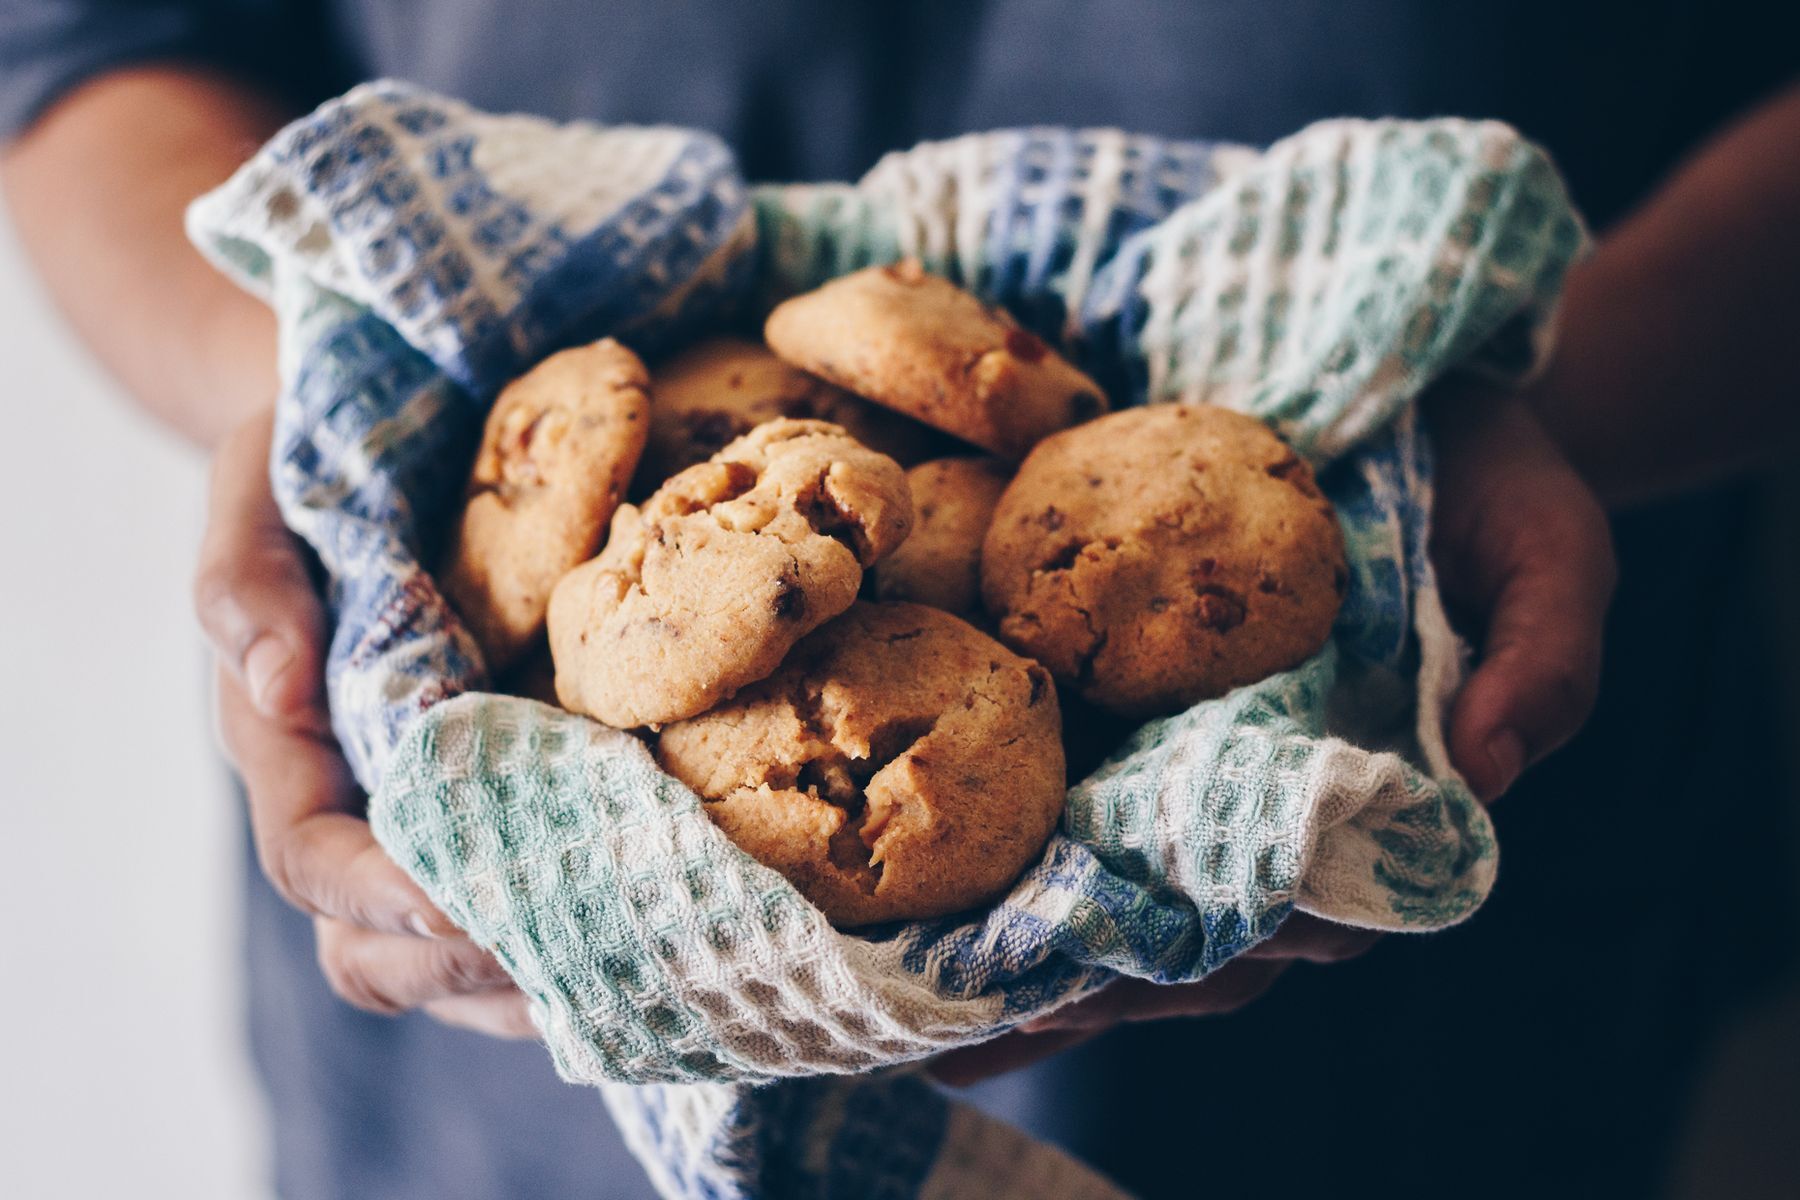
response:
[[[187,243],[187,203],[284,113],[191,68],[103,76],[0,157],[20,241],[76,333],[148,412],[212,444],[275,392],[268,309]]]

